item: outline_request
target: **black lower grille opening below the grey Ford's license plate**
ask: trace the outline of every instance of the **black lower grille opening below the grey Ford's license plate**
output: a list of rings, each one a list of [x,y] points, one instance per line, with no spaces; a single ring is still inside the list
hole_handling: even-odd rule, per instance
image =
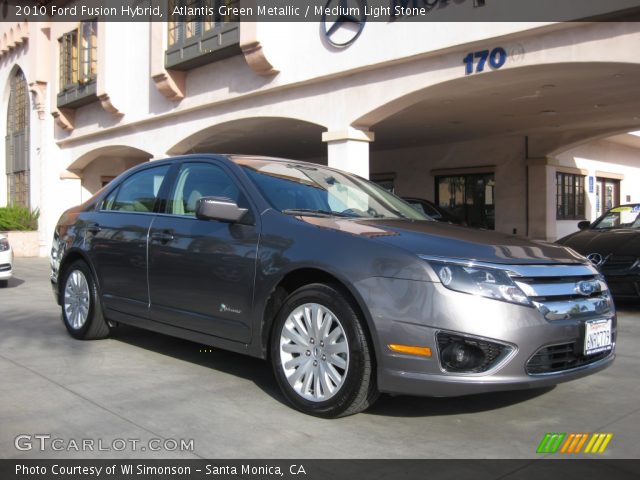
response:
[[[577,342],[553,345],[538,350],[527,362],[529,375],[559,373],[595,363],[611,355],[611,350],[585,357],[578,351]]]

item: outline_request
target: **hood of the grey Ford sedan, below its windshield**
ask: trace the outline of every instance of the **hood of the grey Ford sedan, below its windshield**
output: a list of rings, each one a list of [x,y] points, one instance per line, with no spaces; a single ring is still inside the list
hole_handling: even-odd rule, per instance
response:
[[[501,264],[584,263],[560,245],[440,222],[300,217],[320,228],[342,231],[409,252]]]

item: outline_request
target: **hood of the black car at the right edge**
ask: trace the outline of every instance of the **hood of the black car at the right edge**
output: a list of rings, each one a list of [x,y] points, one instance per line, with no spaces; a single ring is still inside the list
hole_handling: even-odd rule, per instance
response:
[[[558,240],[558,243],[571,247],[583,255],[590,253],[633,255],[640,253],[640,230],[632,228],[582,230]]]

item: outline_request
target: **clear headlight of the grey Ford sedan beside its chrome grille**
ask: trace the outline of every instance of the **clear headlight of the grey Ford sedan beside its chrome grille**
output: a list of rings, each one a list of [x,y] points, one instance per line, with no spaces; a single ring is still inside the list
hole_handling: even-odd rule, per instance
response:
[[[505,270],[479,267],[473,264],[425,260],[434,269],[442,285],[449,290],[519,305],[531,305],[529,298],[513,282]]]

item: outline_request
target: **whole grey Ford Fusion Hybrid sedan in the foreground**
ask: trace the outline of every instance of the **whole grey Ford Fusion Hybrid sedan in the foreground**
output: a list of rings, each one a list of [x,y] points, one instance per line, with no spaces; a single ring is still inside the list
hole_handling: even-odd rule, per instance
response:
[[[380,392],[554,385],[614,359],[613,302],[584,257],[435,222],[305,162],[140,165],[62,215],[51,265],[73,337],[123,323],[268,359],[286,399],[321,417]]]

